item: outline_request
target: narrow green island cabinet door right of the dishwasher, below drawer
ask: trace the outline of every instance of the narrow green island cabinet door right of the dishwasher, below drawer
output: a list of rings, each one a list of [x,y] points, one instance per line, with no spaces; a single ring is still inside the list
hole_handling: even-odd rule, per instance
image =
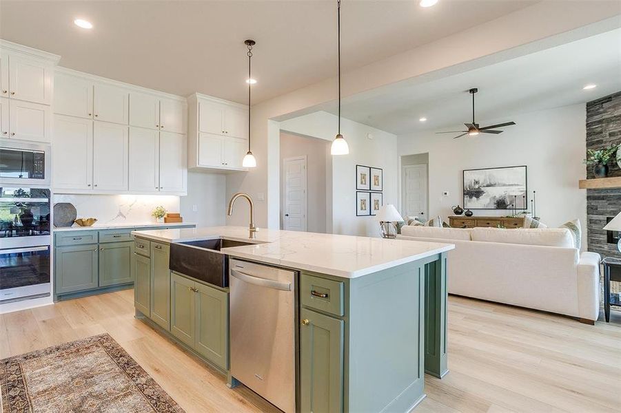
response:
[[[301,412],[343,411],[343,320],[302,308]]]

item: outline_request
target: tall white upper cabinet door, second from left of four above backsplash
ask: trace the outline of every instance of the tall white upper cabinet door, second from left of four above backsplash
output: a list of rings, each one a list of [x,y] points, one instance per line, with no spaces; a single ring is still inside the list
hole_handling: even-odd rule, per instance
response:
[[[95,122],[93,131],[93,189],[128,191],[128,127]]]

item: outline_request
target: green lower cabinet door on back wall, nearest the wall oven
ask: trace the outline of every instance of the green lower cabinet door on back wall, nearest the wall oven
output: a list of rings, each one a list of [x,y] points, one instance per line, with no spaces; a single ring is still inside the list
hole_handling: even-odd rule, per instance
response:
[[[57,246],[54,279],[57,294],[89,290],[99,285],[97,244]]]

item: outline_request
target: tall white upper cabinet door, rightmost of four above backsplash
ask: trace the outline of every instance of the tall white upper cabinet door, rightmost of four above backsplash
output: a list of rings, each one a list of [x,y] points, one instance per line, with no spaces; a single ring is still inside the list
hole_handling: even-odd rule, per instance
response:
[[[161,132],[160,176],[161,192],[187,192],[187,138],[183,134]]]

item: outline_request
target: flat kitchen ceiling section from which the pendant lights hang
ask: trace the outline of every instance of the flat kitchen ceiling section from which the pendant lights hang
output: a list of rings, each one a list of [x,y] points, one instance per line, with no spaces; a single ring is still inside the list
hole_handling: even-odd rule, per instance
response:
[[[496,19],[534,1],[344,0],[343,70]],[[73,24],[91,21],[92,30]],[[186,96],[243,103],[255,39],[254,103],[336,74],[336,1],[0,1],[0,37],[61,65]]]

